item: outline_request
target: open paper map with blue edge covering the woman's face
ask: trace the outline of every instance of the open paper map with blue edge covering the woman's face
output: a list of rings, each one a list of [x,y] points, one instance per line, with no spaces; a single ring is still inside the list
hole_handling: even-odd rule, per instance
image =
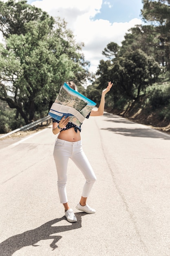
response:
[[[60,88],[60,92],[51,106],[49,115],[60,121],[63,116],[70,117],[73,124],[80,126],[96,103],[79,92],[71,89],[67,83]]]

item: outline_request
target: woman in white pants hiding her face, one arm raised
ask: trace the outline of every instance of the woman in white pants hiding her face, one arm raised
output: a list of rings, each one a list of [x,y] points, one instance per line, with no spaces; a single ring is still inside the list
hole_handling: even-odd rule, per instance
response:
[[[67,84],[77,91],[77,87],[73,81],[67,82]],[[91,110],[89,116],[101,116],[104,113],[105,94],[110,91],[113,83],[108,82],[108,86],[102,92],[101,101],[97,110]],[[79,211],[86,213],[95,213],[95,209],[92,209],[86,203],[88,195],[92,189],[92,186],[96,180],[95,173],[88,162],[86,155],[82,150],[81,144],[81,126],[69,122],[69,117],[62,117],[60,121],[53,119],[53,134],[58,134],[54,147],[54,160],[57,168],[57,187],[60,197],[60,202],[64,205],[65,216],[68,222],[76,222],[77,218],[74,215],[73,209],[68,206],[68,200],[66,195],[66,181],[67,181],[67,164],[68,159],[71,158],[77,167],[82,171],[86,182],[82,191],[82,197],[76,206]]]

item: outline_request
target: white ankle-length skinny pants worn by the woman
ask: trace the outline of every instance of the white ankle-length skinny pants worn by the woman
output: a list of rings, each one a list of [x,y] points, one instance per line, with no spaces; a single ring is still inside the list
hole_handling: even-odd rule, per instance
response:
[[[68,159],[71,158],[76,166],[82,171],[86,182],[83,187],[82,196],[88,197],[92,186],[96,180],[95,173],[88,162],[86,155],[82,149],[82,142],[70,142],[62,139],[56,139],[54,152],[53,152],[55,165],[57,168],[57,187],[62,204],[68,202],[66,194],[66,182],[67,182],[67,165]],[[75,177],[76,178],[76,177]]]

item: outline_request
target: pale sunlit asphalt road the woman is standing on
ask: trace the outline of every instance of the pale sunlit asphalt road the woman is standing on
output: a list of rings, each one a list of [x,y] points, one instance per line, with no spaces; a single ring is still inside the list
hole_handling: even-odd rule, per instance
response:
[[[51,126],[0,141],[0,256],[170,256],[170,135],[105,113],[82,124],[97,176],[79,212],[84,177],[69,161],[68,223],[57,194]]]

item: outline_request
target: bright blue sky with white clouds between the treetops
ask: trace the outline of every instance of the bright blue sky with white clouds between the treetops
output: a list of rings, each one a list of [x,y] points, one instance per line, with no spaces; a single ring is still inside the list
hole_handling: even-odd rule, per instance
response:
[[[89,71],[96,72],[102,51],[110,42],[121,45],[128,29],[141,24],[142,0],[27,0],[53,17],[68,22],[82,52],[90,61]]]

